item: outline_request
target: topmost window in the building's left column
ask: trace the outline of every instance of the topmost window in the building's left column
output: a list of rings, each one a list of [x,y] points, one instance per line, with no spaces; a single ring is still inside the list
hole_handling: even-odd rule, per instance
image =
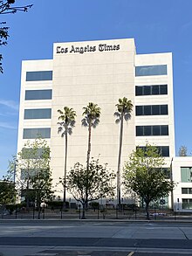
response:
[[[34,71],[26,73],[26,81],[52,80],[52,71]]]

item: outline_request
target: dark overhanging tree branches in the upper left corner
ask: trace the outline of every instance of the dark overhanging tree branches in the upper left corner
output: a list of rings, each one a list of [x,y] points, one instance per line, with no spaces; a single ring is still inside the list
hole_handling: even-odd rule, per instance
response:
[[[24,6],[15,6],[15,0],[0,0],[0,14],[10,14],[16,13],[17,11],[26,12],[32,7],[32,4],[24,5]],[[2,27],[0,27],[0,45],[7,45],[7,39],[9,37],[8,30],[9,27],[6,26],[6,22],[0,22]],[[2,67],[2,59],[3,56],[0,54],[0,73],[3,73]]]

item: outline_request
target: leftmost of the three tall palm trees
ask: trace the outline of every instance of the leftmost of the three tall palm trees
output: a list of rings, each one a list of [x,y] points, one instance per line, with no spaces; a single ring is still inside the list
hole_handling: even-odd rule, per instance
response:
[[[64,199],[63,199],[63,208],[65,209],[66,204],[66,159],[67,159],[67,146],[68,146],[68,135],[72,135],[72,128],[75,126],[75,117],[76,112],[73,108],[64,107],[64,110],[58,109],[58,134],[61,134],[61,137],[65,137],[65,168],[64,168]]]

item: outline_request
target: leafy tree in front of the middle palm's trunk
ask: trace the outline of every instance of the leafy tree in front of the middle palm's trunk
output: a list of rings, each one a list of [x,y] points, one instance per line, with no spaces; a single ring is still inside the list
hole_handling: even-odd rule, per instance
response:
[[[67,190],[82,204],[82,218],[85,218],[88,202],[113,197],[114,178],[113,172],[106,169],[106,164],[99,164],[99,160],[92,160],[88,168],[80,163],[74,164],[66,179]]]

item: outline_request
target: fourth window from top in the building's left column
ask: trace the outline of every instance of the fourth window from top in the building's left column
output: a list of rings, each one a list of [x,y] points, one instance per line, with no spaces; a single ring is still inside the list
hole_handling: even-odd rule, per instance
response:
[[[24,128],[23,139],[51,138],[51,128]]]

